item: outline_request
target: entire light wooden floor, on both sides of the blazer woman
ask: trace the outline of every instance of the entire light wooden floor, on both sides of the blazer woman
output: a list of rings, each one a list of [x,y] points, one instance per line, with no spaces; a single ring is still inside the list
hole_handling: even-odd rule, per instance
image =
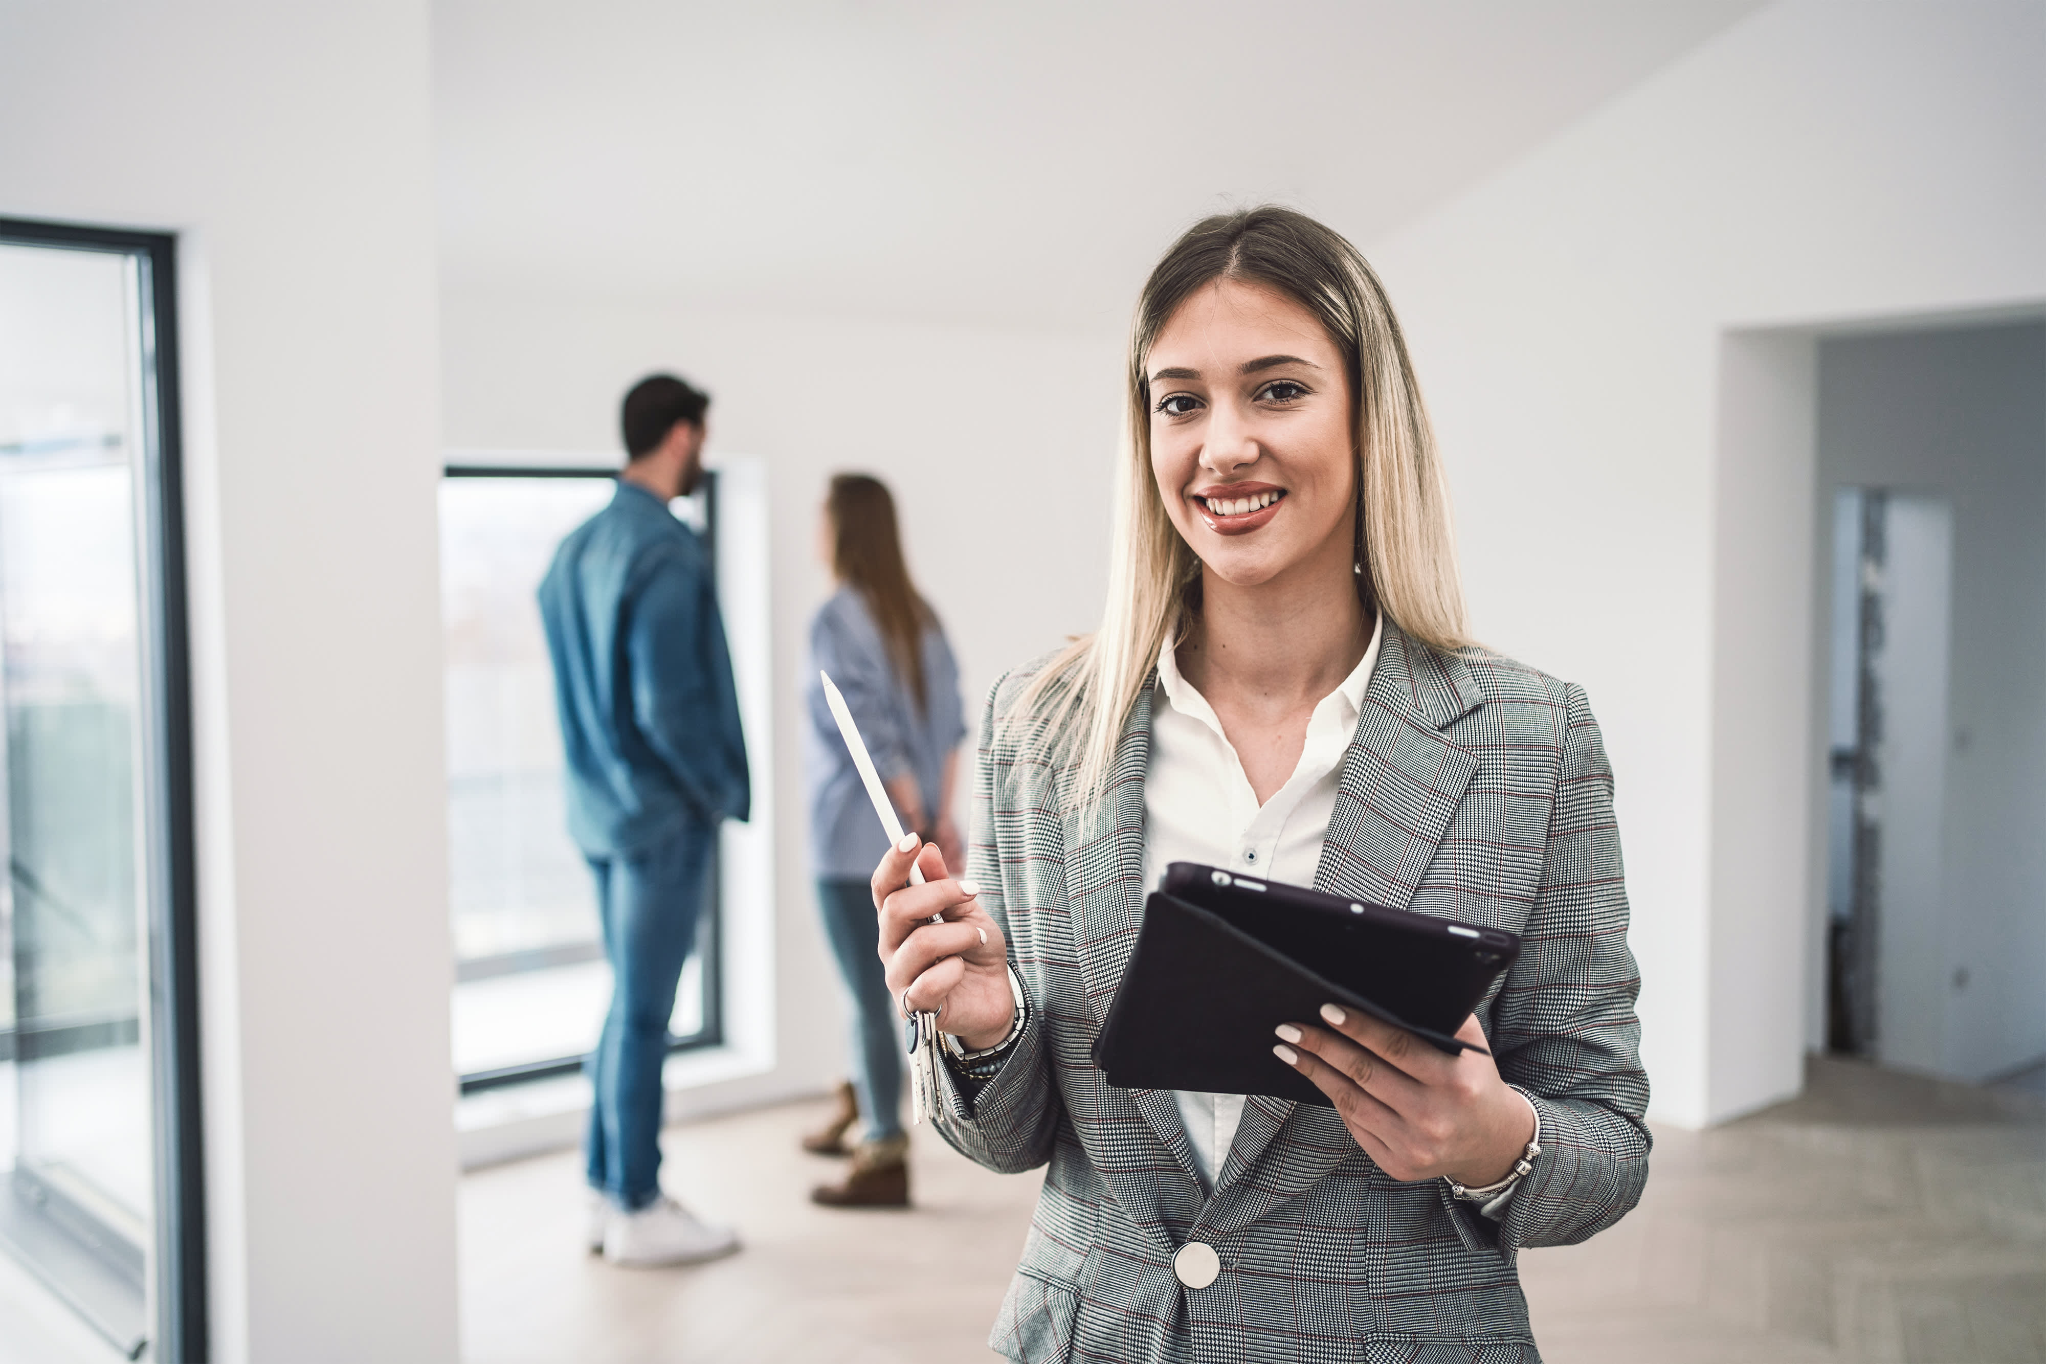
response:
[[[667,1133],[667,1180],[747,1249],[690,1270],[585,1256],[573,1155],[462,1184],[471,1364],[937,1364],[984,1339],[1035,1176],[919,1133],[915,1213],[825,1213],[794,1149],[820,1104]],[[1641,1207],[1522,1280],[1551,1364],[2046,1360],[2046,1100],[1815,1061],[1805,1098],[1659,1129]]]

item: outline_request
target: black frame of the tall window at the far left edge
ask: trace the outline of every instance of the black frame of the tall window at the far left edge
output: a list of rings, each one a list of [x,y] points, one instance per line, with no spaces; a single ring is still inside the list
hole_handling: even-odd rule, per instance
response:
[[[143,581],[162,720],[162,838],[149,896],[147,965],[155,1209],[153,1358],[203,1364],[207,1319],[207,1188],[198,1047],[198,877],[192,791],[192,671],[184,571],[184,440],[178,366],[178,237],[168,231],[0,217],[0,243],[131,256],[141,272],[143,468],[137,495],[153,550]]]

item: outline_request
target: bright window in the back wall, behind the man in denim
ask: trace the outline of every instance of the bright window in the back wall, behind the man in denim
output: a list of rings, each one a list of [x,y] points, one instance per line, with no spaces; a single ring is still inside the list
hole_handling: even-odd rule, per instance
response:
[[[554,677],[534,593],[563,536],[610,501],[610,470],[450,464],[440,487],[446,628],[454,1070],[464,1092],[569,1074],[597,1043],[612,975],[595,883],[569,840]],[[716,536],[716,474],[673,511]],[[710,554],[716,560],[716,554]],[[681,975],[677,1049],[720,1041],[712,896]]]

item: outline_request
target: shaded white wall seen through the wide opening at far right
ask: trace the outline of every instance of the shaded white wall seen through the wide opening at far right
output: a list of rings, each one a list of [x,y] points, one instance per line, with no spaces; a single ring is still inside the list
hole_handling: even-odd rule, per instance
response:
[[[1886,652],[1940,607],[1952,646],[1938,677],[1915,669],[1938,699],[1884,695],[1878,1049],[1993,1076],[2046,1055],[2046,325],[1821,342],[1817,411],[1821,499],[1886,487],[1950,509],[1952,591],[1915,583],[1895,536],[1886,573],[1942,599],[1899,601]],[[1907,802],[1933,783],[1925,828]],[[1915,867],[1893,867],[1913,840]]]

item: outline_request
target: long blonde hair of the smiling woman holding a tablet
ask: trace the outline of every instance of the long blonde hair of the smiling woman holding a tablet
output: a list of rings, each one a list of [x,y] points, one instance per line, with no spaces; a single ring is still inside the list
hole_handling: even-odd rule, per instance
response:
[[[1434,431],[1379,276],[1340,233],[1273,204],[1201,219],[1152,270],[1129,333],[1127,440],[1115,476],[1109,601],[1101,628],[1052,658],[1019,716],[1076,763],[1072,793],[1097,795],[1129,708],[1168,636],[1199,613],[1201,560],[1158,497],[1150,464],[1150,348],[1172,313],[1215,280],[1260,284],[1314,313],[1342,352],[1356,429],[1356,591],[1410,636],[1467,644],[1449,489]]]

